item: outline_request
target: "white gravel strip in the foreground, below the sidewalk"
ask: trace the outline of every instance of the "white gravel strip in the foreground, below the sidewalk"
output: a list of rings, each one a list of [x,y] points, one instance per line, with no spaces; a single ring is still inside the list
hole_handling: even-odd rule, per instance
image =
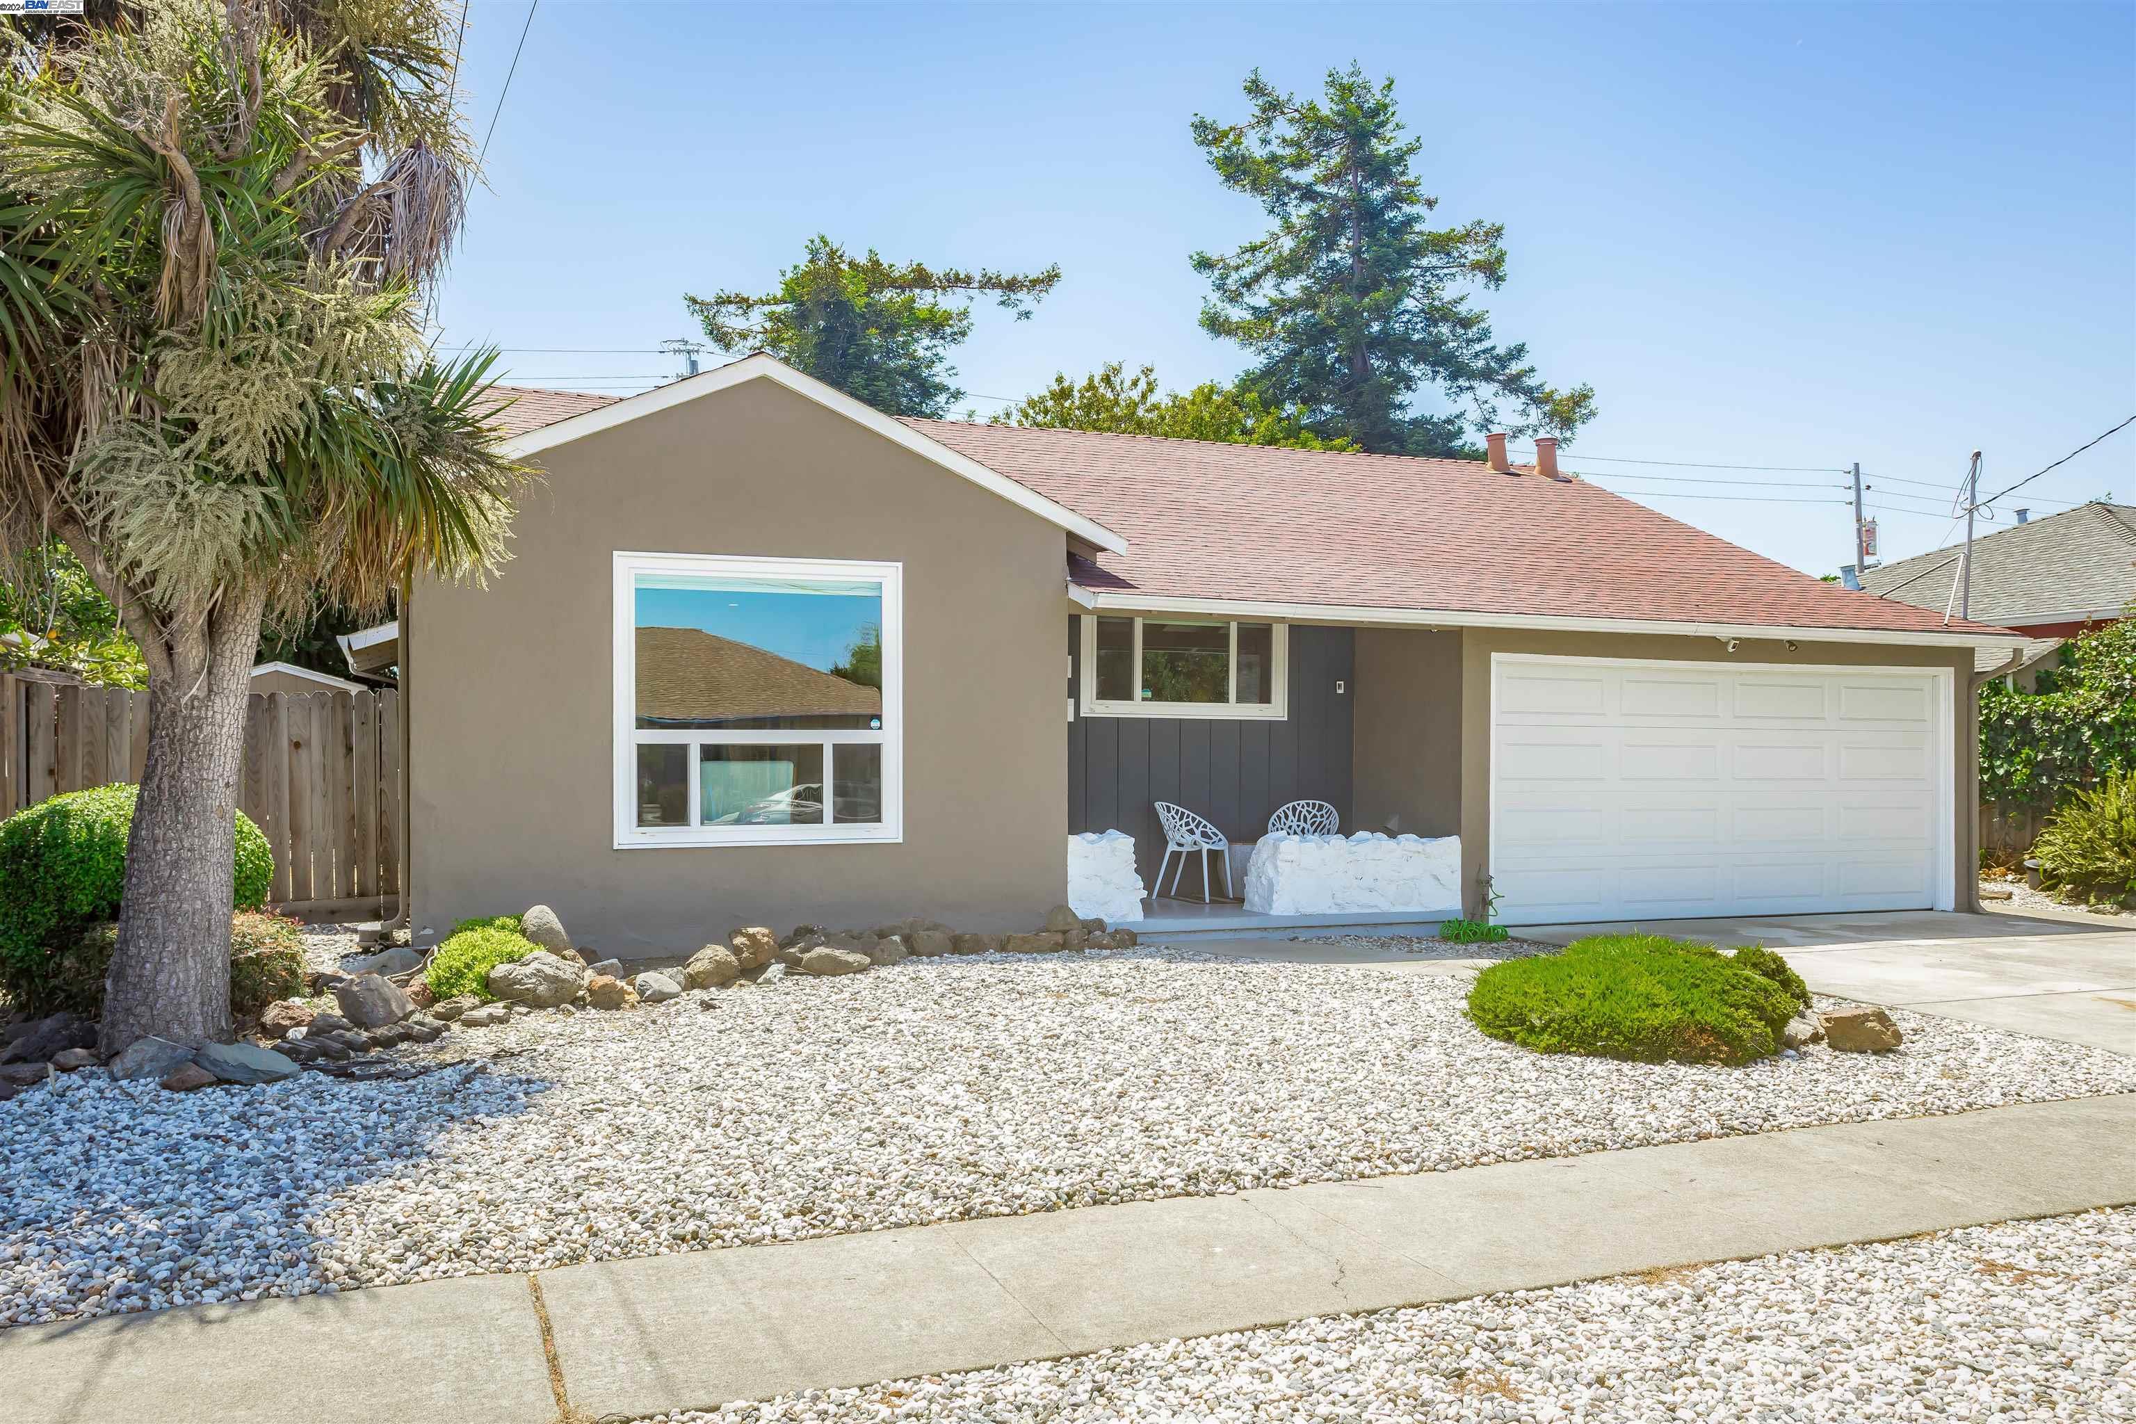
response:
[[[816,1390],[658,1424],[2136,1420],[2136,1211]]]

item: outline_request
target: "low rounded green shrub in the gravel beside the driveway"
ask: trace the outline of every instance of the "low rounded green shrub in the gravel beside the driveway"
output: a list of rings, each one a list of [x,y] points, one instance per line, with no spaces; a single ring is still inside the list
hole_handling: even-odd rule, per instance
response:
[[[1593,935],[1476,976],[1470,1018],[1538,1053],[1749,1063],[1779,1050],[1792,993],[1709,944]]]

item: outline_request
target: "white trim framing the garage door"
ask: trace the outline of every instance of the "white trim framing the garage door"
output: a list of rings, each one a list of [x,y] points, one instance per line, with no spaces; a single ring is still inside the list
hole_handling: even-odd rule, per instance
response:
[[[1499,818],[1504,813],[1506,798],[1499,792],[1499,773],[1504,769],[1502,747],[1499,747],[1499,670],[1506,666],[1606,666],[1606,668],[1655,668],[1664,673],[1734,673],[1734,675],[1766,675],[1766,673],[1809,673],[1816,677],[1901,677],[1901,679],[1925,679],[1935,690],[1935,709],[1931,713],[1933,724],[1933,747],[1931,758],[1935,766],[1935,843],[1929,867],[1929,897],[1927,909],[1954,909],[1957,907],[1957,856],[1959,856],[1959,822],[1957,822],[1957,675],[1954,668],[1910,668],[1910,666],[1848,666],[1848,664],[1816,664],[1816,662],[1690,662],[1675,658],[1581,658],[1581,655],[1557,655],[1557,653],[1491,653],[1489,668],[1489,711],[1487,711],[1487,737],[1489,737],[1489,766],[1485,771],[1485,781],[1489,788],[1489,828],[1487,828],[1487,850],[1485,850],[1485,873],[1491,877],[1493,888],[1497,886],[1497,856],[1502,850],[1499,841]],[[1850,909],[1848,905],[1828,905],[1826,909]],[[1749,907],[1749,909],[1719,909],[1705,912],[1694,909],[1685,916],[1675,918],[1717,918],[1717,916],[1756,916],[1756,914],[1820,914],[1816,907]],[[1549,924],[1549,922],[1587,922],[1587,920],[1621,920],[1621,918],[1643,918],[1662,920],[1670,916],[1658,914],[1574,914],[1570,918],[1536,918],[1525,916],[1519,905],[1508,905],[1504,918],[1514,924]]]

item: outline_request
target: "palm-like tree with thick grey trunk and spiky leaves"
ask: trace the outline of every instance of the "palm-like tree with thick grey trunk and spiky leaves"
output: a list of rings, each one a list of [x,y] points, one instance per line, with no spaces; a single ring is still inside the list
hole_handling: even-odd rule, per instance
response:
[[[496,352],[421,337],[472,173],[457,23],[158,0],[0,34],[0,553],[64,540],[150,683],[107,1053],[231,1035],[263,621],[502,559],[528,472],[498,453]]]

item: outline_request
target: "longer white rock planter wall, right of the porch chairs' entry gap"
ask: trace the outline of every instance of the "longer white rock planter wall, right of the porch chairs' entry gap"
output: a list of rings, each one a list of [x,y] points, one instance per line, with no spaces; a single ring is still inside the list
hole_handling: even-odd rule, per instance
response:
[[[1414,909],[1452,918],[1461,914],[1461,837],[1275,830],[1254,845],[1245,907],[1256,914]]]

